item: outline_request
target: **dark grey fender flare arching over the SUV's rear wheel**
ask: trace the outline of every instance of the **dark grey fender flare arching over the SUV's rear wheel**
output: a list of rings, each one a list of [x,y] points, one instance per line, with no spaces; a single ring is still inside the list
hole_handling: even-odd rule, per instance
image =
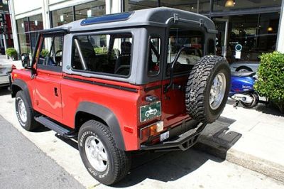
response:
[[[114,136],[114,141],[116,142],[117,147],[121,150],[125,150],[124,137],[122,136],[121,127],[114,112],[107,107],[103,107],[102,105],[94,102],[80,102],[79,107],[76,110],[76,115],[78,112],[92,114],[106,122]],[[76,121],[76,116],[74,121]]]

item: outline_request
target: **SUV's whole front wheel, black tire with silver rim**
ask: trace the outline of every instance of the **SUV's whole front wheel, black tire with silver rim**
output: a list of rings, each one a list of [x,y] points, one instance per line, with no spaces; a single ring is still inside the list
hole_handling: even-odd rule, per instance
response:
[[[35,112],[33,107],[28,103],[28,99],[23,91],[18,91],[16,94],[16,116],[18,122],[21,124],[23,129],[27,131],[33,131],[38,127],[38,122],[35,121]]]

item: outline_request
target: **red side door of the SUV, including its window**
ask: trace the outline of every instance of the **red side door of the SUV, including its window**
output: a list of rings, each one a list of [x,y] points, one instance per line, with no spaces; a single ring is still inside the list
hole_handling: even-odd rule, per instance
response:
[[[62,35],[40,38],[35,83],[35,107],[53,119],[62,118]]]

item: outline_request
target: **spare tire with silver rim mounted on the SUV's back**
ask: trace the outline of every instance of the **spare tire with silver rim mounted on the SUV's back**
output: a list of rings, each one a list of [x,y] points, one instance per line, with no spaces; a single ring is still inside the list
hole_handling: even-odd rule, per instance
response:
[[[231,71],[225,58],[202,57],[190,71],[185,90],[185,106],[190,116],[202,123],[219,118],[226,105],[231,84]]]

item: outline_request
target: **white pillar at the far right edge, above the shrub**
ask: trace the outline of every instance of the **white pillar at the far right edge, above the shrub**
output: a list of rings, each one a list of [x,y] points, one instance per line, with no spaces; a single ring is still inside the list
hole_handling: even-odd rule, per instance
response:
[[[284,0],[282,1],[281,11],[280,11],[276,50],[281,53],[284,53]]]

